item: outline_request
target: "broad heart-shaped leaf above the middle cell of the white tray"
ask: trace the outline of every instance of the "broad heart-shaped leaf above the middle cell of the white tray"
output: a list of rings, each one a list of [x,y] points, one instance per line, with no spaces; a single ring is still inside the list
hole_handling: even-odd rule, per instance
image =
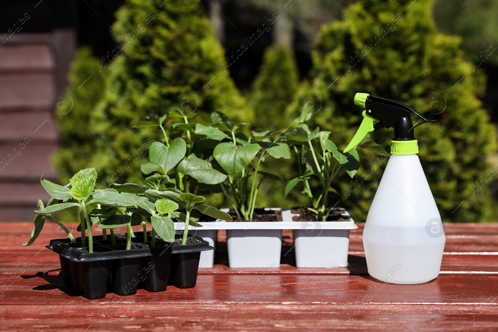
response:
[[[213,157],[232,178],[235,178],[249,165],[258,151],[258,144],[236,146],[232,143],[220,143],[214,149]]]

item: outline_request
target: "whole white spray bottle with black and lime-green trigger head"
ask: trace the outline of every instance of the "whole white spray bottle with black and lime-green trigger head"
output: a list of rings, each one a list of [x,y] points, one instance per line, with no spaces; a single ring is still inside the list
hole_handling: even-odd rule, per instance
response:
[[[368,132],[394,128],[389,161],[363,231],[369,274],[393,284],[421,284],[439,275],[446,238],[441,216],[425,178],[413,136],[410,113],[401,103],[358,93],[363,121],[344,152],[355,148]],[[379,121],[373,124],[375,121]]]

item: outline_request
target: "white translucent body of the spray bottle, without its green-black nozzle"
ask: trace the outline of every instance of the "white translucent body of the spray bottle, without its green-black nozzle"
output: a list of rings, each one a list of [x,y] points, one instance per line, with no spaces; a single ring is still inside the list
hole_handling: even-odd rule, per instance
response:
[[[418,156],[391,155],[363,232],[369,274],[394,284],[428,282],[439,274],[445,240]]]

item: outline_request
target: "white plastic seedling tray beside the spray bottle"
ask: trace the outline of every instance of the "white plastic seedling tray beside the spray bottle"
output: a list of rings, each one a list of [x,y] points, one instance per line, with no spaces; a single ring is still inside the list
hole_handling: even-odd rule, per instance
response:
[[[230,267],[278,267],[282,229],[294,229],[297,267],[344,267],[348,259],[349,231],[358,226],[347,211],[343,215],[350,221],[292,221],[294,215],[290,210],[282,210],[283,221],[217,220],[199,222],[202,227],[189,225],[189,231],[214,245],[215,231],[226,229]],[[184,227],[185,223],[175,222],[175,229]],[[252,249],[247,250],[249,247]],[[214,250],[203,251],[199,267],[213,267],[213,261]]]

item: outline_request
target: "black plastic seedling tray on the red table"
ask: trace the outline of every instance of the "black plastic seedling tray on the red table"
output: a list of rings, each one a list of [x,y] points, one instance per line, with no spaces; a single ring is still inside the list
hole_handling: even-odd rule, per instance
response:
[[[147,239],[150,235],[148,232]],[[178,231],[175,238],[182,235]],[[94,236],[93,253],[82,250],[80,238],[76,243],[53,239],[46,247],[59,254],[64,284],[89,299],[103,298],[107,292],[132,295],[139,287],[150,292],[165,291],[167,285],[195,287],[201,251],[214,249],[190,234],[189,239],[196,243],[181,245],[156,237],[155,248],[130,250],[124,250],[126,234],[115,234],[115,238],[116,245],[112,245],[110,239]],[[143,236],[132,237],[131,242],[143,245]]]

